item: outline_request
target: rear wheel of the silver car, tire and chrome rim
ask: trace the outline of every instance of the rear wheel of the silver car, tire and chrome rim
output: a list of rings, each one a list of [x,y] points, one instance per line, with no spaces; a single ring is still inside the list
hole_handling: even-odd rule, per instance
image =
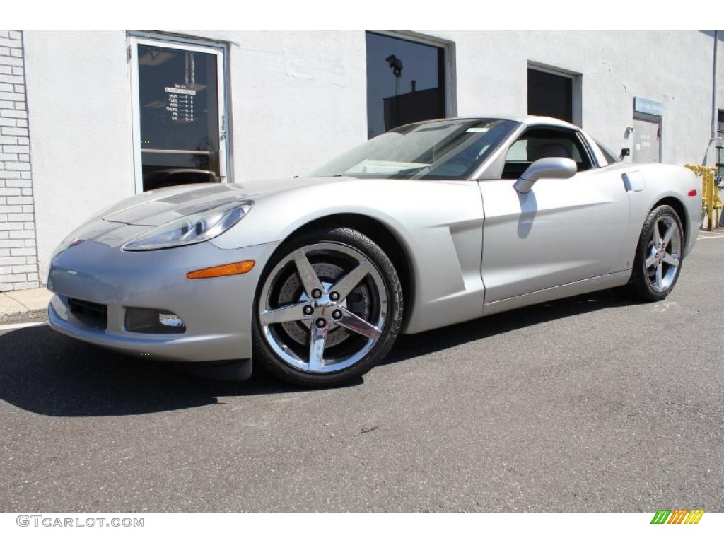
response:
[[[671,206],[653,209],[641,229],[628,292],[633,298],[659,301],[673,290],[683,258],[681,219]]]

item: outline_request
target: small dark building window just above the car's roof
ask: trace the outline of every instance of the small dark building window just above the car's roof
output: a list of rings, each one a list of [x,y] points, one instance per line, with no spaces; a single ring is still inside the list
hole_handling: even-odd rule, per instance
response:
[[[529,68],[528,114],[573,122],[573,78]]]

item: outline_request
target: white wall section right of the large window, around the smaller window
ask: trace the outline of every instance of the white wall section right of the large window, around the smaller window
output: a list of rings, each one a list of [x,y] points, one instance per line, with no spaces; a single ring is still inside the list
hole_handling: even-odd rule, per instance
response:
[[[582,126],[618,151],[633,97],[664,103],[662,161],[701,163],[711,123],[712,39],[699,32],[449,32],[458,114],[526,114],[529,62],[581,74]],[[708,104],[708,106],[707,106]]]

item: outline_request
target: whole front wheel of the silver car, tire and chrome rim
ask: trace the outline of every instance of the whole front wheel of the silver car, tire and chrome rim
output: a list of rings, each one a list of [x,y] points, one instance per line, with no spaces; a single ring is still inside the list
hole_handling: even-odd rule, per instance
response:
[[[395,342],[400,279],[374,241],[327,227],[283,243],[262,274],[254,357],[294,384],[339,384],[369,371]]]

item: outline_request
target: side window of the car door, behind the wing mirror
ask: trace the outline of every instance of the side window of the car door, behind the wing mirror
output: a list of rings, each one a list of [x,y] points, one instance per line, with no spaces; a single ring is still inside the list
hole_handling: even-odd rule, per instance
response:
[[[529,128],[515,140],[505,156],[502,179],[518,179],[536,160],[550,156],[572,159],[578,172],[592,166],[588,152],[576,132],[557,128]]]

